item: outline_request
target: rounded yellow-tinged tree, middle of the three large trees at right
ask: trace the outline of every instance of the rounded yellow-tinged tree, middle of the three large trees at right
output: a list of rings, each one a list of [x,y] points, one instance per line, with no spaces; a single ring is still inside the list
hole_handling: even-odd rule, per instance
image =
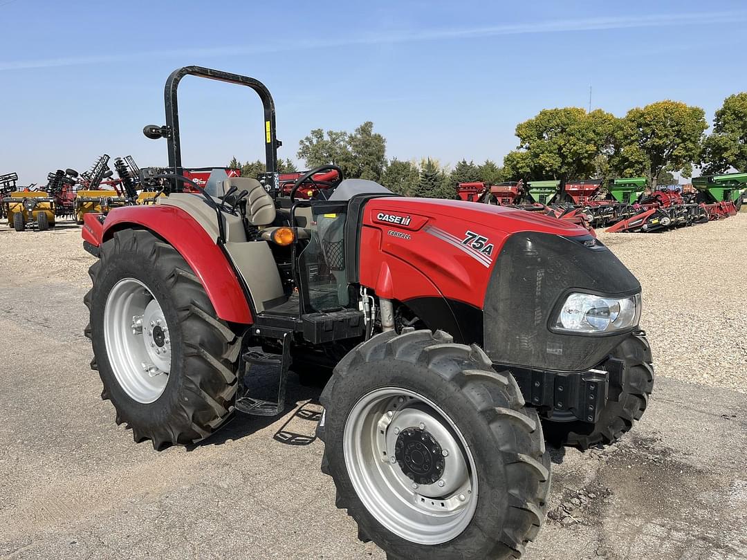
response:
[[[708,128],[699,107],[660,101],[630,109],[615,134],[613,167],[619,175],[644,175],[651,189],[660,172],[692,173]]]

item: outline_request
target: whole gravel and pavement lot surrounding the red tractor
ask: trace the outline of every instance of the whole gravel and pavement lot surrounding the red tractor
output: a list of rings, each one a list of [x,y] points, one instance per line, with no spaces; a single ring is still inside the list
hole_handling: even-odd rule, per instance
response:
[[[553,452],[550,514],[525,559],[747,559],[747,214],[665,234],[601,234],[640,279],[657,384],[607,449]],[[91,372],[78,228],[0,229],[0,555],[383,558],[319,471],[318,390],[155,452],[114,423]]]

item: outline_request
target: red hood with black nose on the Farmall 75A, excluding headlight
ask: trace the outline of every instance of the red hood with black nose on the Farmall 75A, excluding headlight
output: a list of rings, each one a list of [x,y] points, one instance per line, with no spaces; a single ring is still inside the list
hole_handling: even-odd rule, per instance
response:
[[[358,228],[358,251],[353,255],[349,243],[347,254],[358,266],[349,269],[349,281],[403,302],[431,329],[479,343],[497,364],[579,371],[630,334],[551,331],[569,293],[640,291],[585,228],[475,202],[377,197],[365,201],[359,220],[354,206],[353,199],[348,231]]]

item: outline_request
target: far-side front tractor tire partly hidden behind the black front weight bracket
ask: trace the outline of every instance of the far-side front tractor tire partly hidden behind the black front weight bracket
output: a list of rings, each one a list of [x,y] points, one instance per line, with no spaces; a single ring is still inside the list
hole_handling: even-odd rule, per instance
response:
[[[570,446],[589,449],[598,444],[613,444],[629,432],[640,420],[654,389],[654,367],[651,346],[645,333],[634,332],[612,352],[613,358],[624,362],[622,387],[610,396],[597,423],[573,420],[552,421],[542,418],[545,439],[554,447]]]

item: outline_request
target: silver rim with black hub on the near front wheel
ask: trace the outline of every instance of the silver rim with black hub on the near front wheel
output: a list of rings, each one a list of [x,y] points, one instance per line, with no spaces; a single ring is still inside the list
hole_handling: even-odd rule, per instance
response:
[[[417,447],[416,435],[432,453],[427,461],[442,460],[435,482],[422,482],[411,466],[424,463],[403,452]],[[422,458],[415,455],[417,450],[412,456]],[[441,544],[459,536],[471,522],[477,508],[472,452],[456,424],[421,394],[390,387],[362,396],[347,417],[343,452],[356,494],[395,535],[418,544]]]

